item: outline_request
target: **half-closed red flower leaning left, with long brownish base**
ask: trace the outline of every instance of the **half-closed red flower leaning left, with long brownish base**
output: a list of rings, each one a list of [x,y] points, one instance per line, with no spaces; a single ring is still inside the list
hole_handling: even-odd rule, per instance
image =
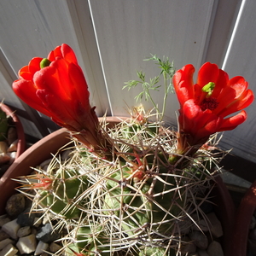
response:
[[[57,46],[47,59],[33,58],[20,69],[19,77],[13,89],[21,100],[73,131],[87,147],[104,147],[84,73],[67,44]]]

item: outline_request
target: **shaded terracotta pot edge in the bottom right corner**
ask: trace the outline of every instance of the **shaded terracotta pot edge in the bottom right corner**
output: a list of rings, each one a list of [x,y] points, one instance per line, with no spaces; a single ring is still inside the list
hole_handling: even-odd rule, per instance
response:
[[[256,181],[247,189],[236,212],[235,230],[231,253],[234,256],[247,255],[247,240],[253,212],[256,210]]]

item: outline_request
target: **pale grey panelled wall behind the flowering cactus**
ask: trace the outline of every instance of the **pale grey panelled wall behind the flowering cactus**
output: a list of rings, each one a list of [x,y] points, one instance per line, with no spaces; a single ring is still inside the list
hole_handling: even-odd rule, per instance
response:
[[[244,76],[256,91],[255,8],[254,0],[2,0],[0,99],[26,110],[39,129],[23,120],[27,132],[44,135],[42,119],[20,104],[10,85],[33,56],[44,57],[62,43],[79,56],[99,116],[128,114],[126,104],[136,104],[139,90],[122,87],[137,79],[137,70],[154,76],[154,65],[143,61],[150,54],[168,56],[177,68],[215,62],[230,77]],[[162,103],[162,92],[154,97]],[[177,108],[171,95],[166,119],[172,124]],[[254,108],[255,103],[247,108],[246,123],[224,133],[221,146],[256,161]]]

